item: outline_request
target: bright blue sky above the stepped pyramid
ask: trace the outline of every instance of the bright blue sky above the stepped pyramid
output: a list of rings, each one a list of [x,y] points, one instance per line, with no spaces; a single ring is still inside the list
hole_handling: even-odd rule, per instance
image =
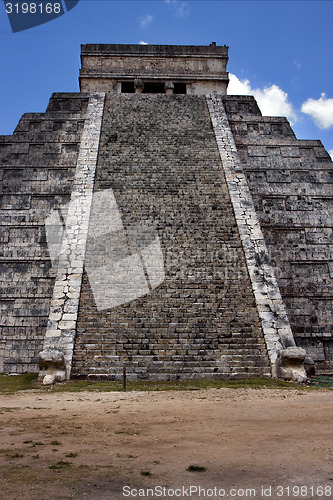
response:
[[[333,154],[333,1],[80,0],[65,15],[12,33],[0,1],[0,134],[53,92],[77,92],[81,43],[229,46],[229,93],[287,116],[300,139]]]

